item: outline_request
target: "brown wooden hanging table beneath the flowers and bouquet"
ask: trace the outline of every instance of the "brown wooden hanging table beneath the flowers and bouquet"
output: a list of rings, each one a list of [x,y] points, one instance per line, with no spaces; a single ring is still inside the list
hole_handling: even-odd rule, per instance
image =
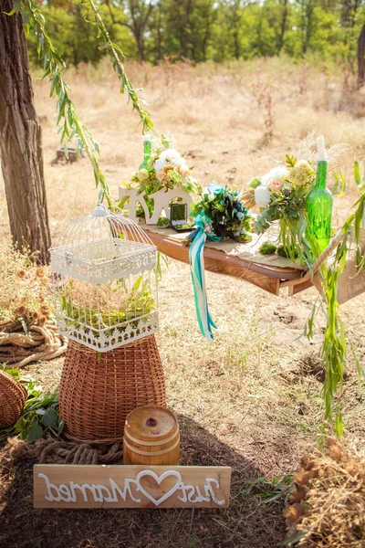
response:
[[[152,229],[145,225],[143,229],[159,251],[168,257],[189,263],[189,248],[184,247],[181,240],[164,234],[163,230],[157,232],[155,227]],[[255,256],[253,258],[255,259]],[[291,285],[292,280],[300,279],[306,274],[303,269],[272,267],[255,260],[235,257],[208,246],[204,247],[204,265],[206,270],[244,279],[274,295],[279,295],[281,288],[288,288],[289,295],[294,295],[312,287],[310,280]]]

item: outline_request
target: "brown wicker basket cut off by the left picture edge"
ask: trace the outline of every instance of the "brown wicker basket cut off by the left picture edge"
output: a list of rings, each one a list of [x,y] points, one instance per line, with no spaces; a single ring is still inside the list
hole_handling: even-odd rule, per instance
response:
[[[14,425],[22,414],[26,388],[10,374],[0,371],[0,428]]]

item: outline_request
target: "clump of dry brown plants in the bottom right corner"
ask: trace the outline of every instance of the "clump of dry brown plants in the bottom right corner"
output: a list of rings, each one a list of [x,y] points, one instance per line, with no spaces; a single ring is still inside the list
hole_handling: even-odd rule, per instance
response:
[[[285,511],[289,538],[301,548],[362,548],[365,543],[365,458],[328,437],[324,451],[310,450],[294,478]],[[293,534],[294,533],[294,534]],[[291,544],[290,544],[291,545]]]

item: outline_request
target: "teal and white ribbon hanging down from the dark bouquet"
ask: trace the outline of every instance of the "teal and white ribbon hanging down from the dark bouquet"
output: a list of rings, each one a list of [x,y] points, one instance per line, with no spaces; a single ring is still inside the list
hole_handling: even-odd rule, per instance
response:
[[[193,293],[195,300],[195,311],[198,319],[198,324],[203,337],[208,341],[214,339],[212,328],[216,329],[216,325],[211,318],[208,309],[208,300],[206,297],[205,274],[204,274],[204,244],[208,237],[211,240],[218,242],[221,237],[215,236],[207,232],[211,219],[204,214],[195,217],[195,230],[190,235],[193,240],[189,248],[190,271],[193,280]]]

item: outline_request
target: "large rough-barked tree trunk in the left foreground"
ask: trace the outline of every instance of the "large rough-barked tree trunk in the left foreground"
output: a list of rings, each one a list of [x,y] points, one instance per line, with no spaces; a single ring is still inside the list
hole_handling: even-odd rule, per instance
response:
[[[1,11],[9,13],[13,5],[3,0]],[[17,248],[29,248],[46,264],[50,235],[41,137],[23,19],[0,13],[0,153],[10,229]]]

